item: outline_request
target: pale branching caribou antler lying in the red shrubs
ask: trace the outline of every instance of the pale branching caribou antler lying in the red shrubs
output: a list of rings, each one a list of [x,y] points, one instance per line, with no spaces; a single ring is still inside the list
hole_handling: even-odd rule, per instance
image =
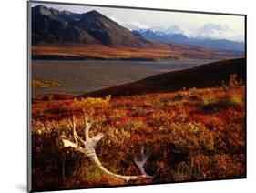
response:
[[[144,152],[144,148],[141,148],[141,158],[138,161],[137,158],[134,159],[136,165],[138,166],[141,175],[138,176],[123,176],[123,175],[118,175],[115,174],[111,171],[109,171],[107,168],[104,168],[102,166],[102,164],[100,163],[100,161],[97,158],[97,154],[96,154],[96,147],[97,147],[97,142],[106,136],[106,134],[103,133],[99,133],[97,134],[97,136],[94,137],[89,137],[89,128],[92,125],[92,122],[88,122],[87,121],[87,117],[85,115],[85,138],[86,140],[83,140],[82,137],[79,137],[77,135],[77,131],[76,131],[76,119],[73,117],[72,121],[69,120],[69,124],[70,126],[73,128],[73,137],[75,139],[75,143],[67,140],[67,139],[62,139],[64,147],[73,147],[75,148],[77,151],[85,154],[94,164],[97,165],[98,168],[100,168],[103,172],[107,173],[108,175],[115,177],[115,178],[123,178],[126,181],[129,181],[131,179],[138,179],[138,178],[154,178],[152,176],[149,176],[146,172],[145,169],[143,168],[145,162],[148,160],[148,157],[150,157],[150,151],[149,149],[147,149],[146,153]],[[83,146],[81,146],[80,144],[82,144]]]

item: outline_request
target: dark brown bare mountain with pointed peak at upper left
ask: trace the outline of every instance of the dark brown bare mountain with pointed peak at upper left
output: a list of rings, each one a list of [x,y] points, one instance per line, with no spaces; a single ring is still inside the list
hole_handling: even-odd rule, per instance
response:
[[[74,14],[37,5],[32,8],[32,43],[40,42],[133,47],[153,45],[95,10]]]

